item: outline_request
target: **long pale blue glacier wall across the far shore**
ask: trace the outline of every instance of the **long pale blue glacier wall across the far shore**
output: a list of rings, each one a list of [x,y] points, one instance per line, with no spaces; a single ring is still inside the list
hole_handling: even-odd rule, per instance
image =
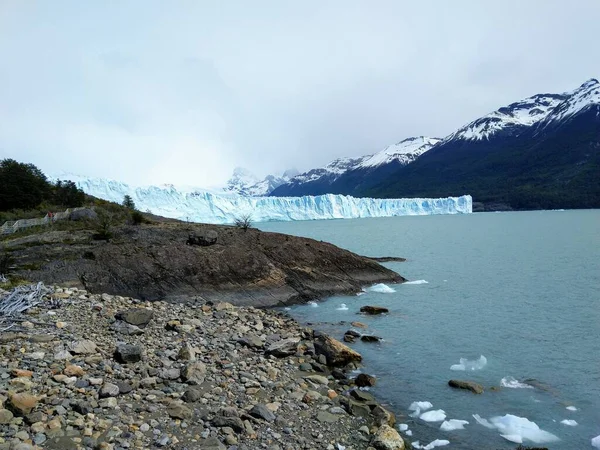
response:
[[[326,194],[305,197],[247,197],[174,185],[135,187],[105,179],[73,180],[86,194],[121,203],[130,195],[140,211],[164,217],[213,224],[231,224],[250,214],[254,222],[356,219],[364,217],[468,214],[470,195],[447,198],[355,198]]]

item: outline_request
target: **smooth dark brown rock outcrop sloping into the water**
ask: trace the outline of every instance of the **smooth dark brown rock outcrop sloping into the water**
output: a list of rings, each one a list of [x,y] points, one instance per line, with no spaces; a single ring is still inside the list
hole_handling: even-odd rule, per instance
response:
[[[186,245],[189,233],[214,245]],[[365,285],[402,282],[391,270],[312,239],[187,223],[116,227],[103,245],[94,230],[50,231],[3,245],[15,260],[38,267],[15,275],[95,293],[170,302],[227,301],[267,307],[356,293]],[[69,245],[65,245],[65,243]],[[74,243],[76,245],[71,245]],[[87,257],[93,253],[93,258]]]

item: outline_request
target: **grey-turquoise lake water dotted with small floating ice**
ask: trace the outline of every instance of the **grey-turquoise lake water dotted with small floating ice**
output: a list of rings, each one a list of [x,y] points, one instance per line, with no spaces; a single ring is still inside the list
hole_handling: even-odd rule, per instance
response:
[[[427,281],[389,285],[393,293],[334,297],[289,311],[338,338],[349,322],[360,320],[368,324],[369,333],[384,339],[352,345],[364,356],[364,371],[378,377],[375,395],[404,416],[399,422],[413,432],[411,442],[446,439],[450,444],[442,448],[514,449],[517,444],[501,434],[523,435],[522,429],[490,429],[473,418],[512,414],[559,439],[540,446],[592,449],[591,439],[600,435],[600,211],[258,226],[329,241],[363,255],[403,256],[407,262],[385,265],[409,280]],[[347,310],[339,309],[342,304]],[[366,304],[391,312],[358,316]],[[477,360],[481,355],[487,364],[479,370],[450,370],[460,358]],[[534,387],[489,389],[508,377]],[[488,389],[483,395],[453,390],[447,386],[451,378],[474,380]],[[463,430],[441,431],[442,422],[408,416],[413,401],[429,401],[447,419],[469,424]],[[523,441],[530,446],[551,440],[535,430],[525,437],[533,439]]]

